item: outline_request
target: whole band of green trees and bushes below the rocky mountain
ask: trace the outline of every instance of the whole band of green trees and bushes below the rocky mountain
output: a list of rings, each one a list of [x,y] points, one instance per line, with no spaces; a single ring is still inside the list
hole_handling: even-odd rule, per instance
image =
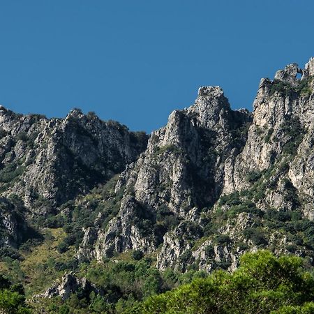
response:
[[[313,313],[313,267],[301,257],[246,253],[232,274],[218,270],[210,275],[158,271],[147,257],[137,261],[125,255],[124,260],[80,267],[78,275],[100,287],[103,296],[79,290],[65,301],[36,301],[33,311],[25,306],[22,286],[0,276],[0,308],[13,314]]]

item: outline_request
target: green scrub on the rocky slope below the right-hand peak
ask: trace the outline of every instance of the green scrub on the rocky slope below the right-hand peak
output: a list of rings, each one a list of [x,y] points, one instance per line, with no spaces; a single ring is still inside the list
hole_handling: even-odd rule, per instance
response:
[[[220,234],[225,227],[228,229],[234,227],[235,232],[239,230],[239,233],[230,242],[232,250],[237,247],[238,241],[244,246],[253,245],[271,251],[276,251],[278,245],[286,246],[292,253],[300,250],[306,252],[308,257],[314,257],[312,251],[314,237],[311,235],[314,233],[314,224],[304,218],[301,212],[302,195],[298,195],[290,180],[281,179],[282,174],[289,169],[289,160],[291,156],[283,156],[268,170],[248,172],[246,179],[251,182],[251,188],[222,195],[215,210],[205,209],[203,218],[205,237],[213,243],[226,246],[227,241],[216,241],[216,234]],[[279,183],[283,186],[283,208],[259,209],[257,204],[264,195],[267,195],[267,190],[276,189]],[[249,216],[244,215],[240,219],[239,215],[242,213]],[[248,217],[249,223],[246,225]],[[284,237],[287,244],[282,242]]]

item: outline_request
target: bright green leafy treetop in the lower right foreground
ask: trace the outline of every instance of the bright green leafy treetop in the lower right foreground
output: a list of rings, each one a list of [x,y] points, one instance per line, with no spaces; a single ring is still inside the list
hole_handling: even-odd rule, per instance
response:
[[[313,303],[312,303],[313,302]],[[247,253],[237,271],[216,271],[135,303],[123,313],[313,313],[314,278],[300,257]]]

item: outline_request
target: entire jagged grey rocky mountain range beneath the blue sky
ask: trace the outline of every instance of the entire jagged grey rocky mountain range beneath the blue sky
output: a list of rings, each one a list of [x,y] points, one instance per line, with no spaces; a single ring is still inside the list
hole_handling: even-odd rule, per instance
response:
[[[233,270],[259,248],[313,263],[313,77],[311,58],[262,79],[252,113],[201,87],[150,136],[1,107],[2,254],[63,227],[78,264],[133,252],[160,271]]]

